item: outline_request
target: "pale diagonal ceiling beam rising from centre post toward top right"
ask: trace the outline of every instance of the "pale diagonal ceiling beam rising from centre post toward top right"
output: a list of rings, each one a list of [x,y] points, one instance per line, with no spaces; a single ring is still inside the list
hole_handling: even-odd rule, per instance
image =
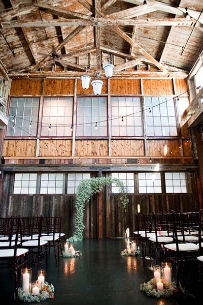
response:
[[[123,10],[123,11],[120,11],[120,12],[116,12],[116,13],[106,15],[106,17],[107,18],[115,18],[115,19],[116,18],[123,18],[123,19],[134,18],[134,17],[138,17],[138,16],[141,16],[141,15],[145,15],[145,14],[154,12],[154,11],[157,10],[158,6],[159,6],[158,3],[148,5],[147,8],[145,8],[143,5],[139,5],[139,6],[130,8],[130,9],[126,9],[126,10]]]

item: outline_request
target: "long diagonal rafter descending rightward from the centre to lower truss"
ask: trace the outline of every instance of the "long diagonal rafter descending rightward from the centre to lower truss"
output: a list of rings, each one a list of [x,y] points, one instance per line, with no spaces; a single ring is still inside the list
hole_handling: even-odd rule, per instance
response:
[[[159,62],[157,62],[157,60],[153,56],[151,56],[147,51],[145,51],[145,49],[143,49],[137,42],[133,42],[133,40],[127,34],[125,34],[119,27],[115,26],[112,29],[115,33],[117,33],[130,45],[133,45],[133,47],[136,48],[141,53],[141,55],[149,59],[150,62],[153,65],[155,65],[158,69],[160,69],[163,72],[166,72],[166,69],[161,64],[159,64]]]

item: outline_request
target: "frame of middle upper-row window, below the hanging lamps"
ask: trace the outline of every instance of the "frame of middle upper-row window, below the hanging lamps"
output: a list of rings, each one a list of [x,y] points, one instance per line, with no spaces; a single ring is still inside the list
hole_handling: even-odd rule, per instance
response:
[[[106,120],[107,120],[107,134],[106,134],[106,136],[77,136],[77,126],[78,126],[78,99],[79,98],[106,98],[106,100],[107,100],[107,107],[106,107],[106,113],[107,113],[107,116],[106,116]],[[107,95],[99,95],[99,96],[97,96],[97,95],[87,95],[87,96],[84,96],[84,95],[82,95],[82,96],[77,96],[77,101],[76,101],[76,126],[75,126],[75,128],[76,128],[76,136],[75,136],[75,139],[77,139],[77,140],[80,140],[80,139],[108,139],[109,138],[109,119],[108,119],[108,115],[109,115],[109,113],[108,113],[108,96]],[[95,124],[96,122],[94,122],[93,124]],[[98,122],[97,122],[98,123]],[[98,128],[99,128],[99,124],[98,124]]]

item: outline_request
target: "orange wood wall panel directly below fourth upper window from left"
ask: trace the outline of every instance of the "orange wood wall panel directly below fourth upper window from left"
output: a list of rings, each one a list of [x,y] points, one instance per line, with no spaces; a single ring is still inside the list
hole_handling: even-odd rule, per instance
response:
[[[111,156],[144,156],[144,140],[111,140]]]

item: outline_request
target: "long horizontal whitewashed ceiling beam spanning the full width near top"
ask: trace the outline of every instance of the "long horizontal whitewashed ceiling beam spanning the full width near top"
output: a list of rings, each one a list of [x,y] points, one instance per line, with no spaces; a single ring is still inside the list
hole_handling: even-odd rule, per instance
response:
[[[2,20],[4,28],[12,27],[44,27],[44,26],[74,26],[74,25],[90,25],[90,26],[105,26],[105,25],[132,25],[132,26],[192,26],[195,19],[189,21],[185,18],[167,18],[167,19],[109,19],[98,18],[92,20],[85,19],[66,19],[66,20],[33,20],[33,21],[17,21],[17,20]],[[202,28],[201,24],[197,24]]]

